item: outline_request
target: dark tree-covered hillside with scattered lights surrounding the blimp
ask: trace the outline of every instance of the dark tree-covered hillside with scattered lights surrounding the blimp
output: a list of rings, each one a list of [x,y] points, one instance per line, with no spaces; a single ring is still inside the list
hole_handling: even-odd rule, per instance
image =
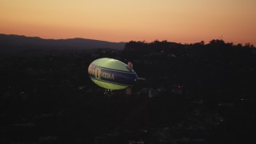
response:
[[[105,94],[87,74],[103,57],[146,81]],[[255,63],[254,46],[222,40],[0,53],[0,143],[255,143]]]

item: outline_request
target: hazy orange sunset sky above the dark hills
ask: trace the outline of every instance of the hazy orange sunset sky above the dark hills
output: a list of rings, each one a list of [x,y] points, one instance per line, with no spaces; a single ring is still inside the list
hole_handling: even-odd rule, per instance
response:
[[[255,0],[0,0],[0,34],[256,45]]]

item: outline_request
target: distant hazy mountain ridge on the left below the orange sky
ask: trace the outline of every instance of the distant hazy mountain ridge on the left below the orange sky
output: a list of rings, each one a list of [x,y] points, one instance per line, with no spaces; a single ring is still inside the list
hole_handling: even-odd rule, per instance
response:
[[[122,50],[125,42],[106,42],[85,38],[69,38],[69,39],[43,39],[38,37],[26,37],[23,35],[0,34],[0,47],[47,47],[47,48],[70,48],[70,49],[97,49],[111,48]]]

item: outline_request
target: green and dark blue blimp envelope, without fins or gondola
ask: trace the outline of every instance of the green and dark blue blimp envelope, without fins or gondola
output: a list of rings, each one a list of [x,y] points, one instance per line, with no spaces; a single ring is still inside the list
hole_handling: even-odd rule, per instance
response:
[[[113,58],[99,58],[90,63],[90,79],[108,90],[122,90],[134,86],[138,76],[124,62]]]

